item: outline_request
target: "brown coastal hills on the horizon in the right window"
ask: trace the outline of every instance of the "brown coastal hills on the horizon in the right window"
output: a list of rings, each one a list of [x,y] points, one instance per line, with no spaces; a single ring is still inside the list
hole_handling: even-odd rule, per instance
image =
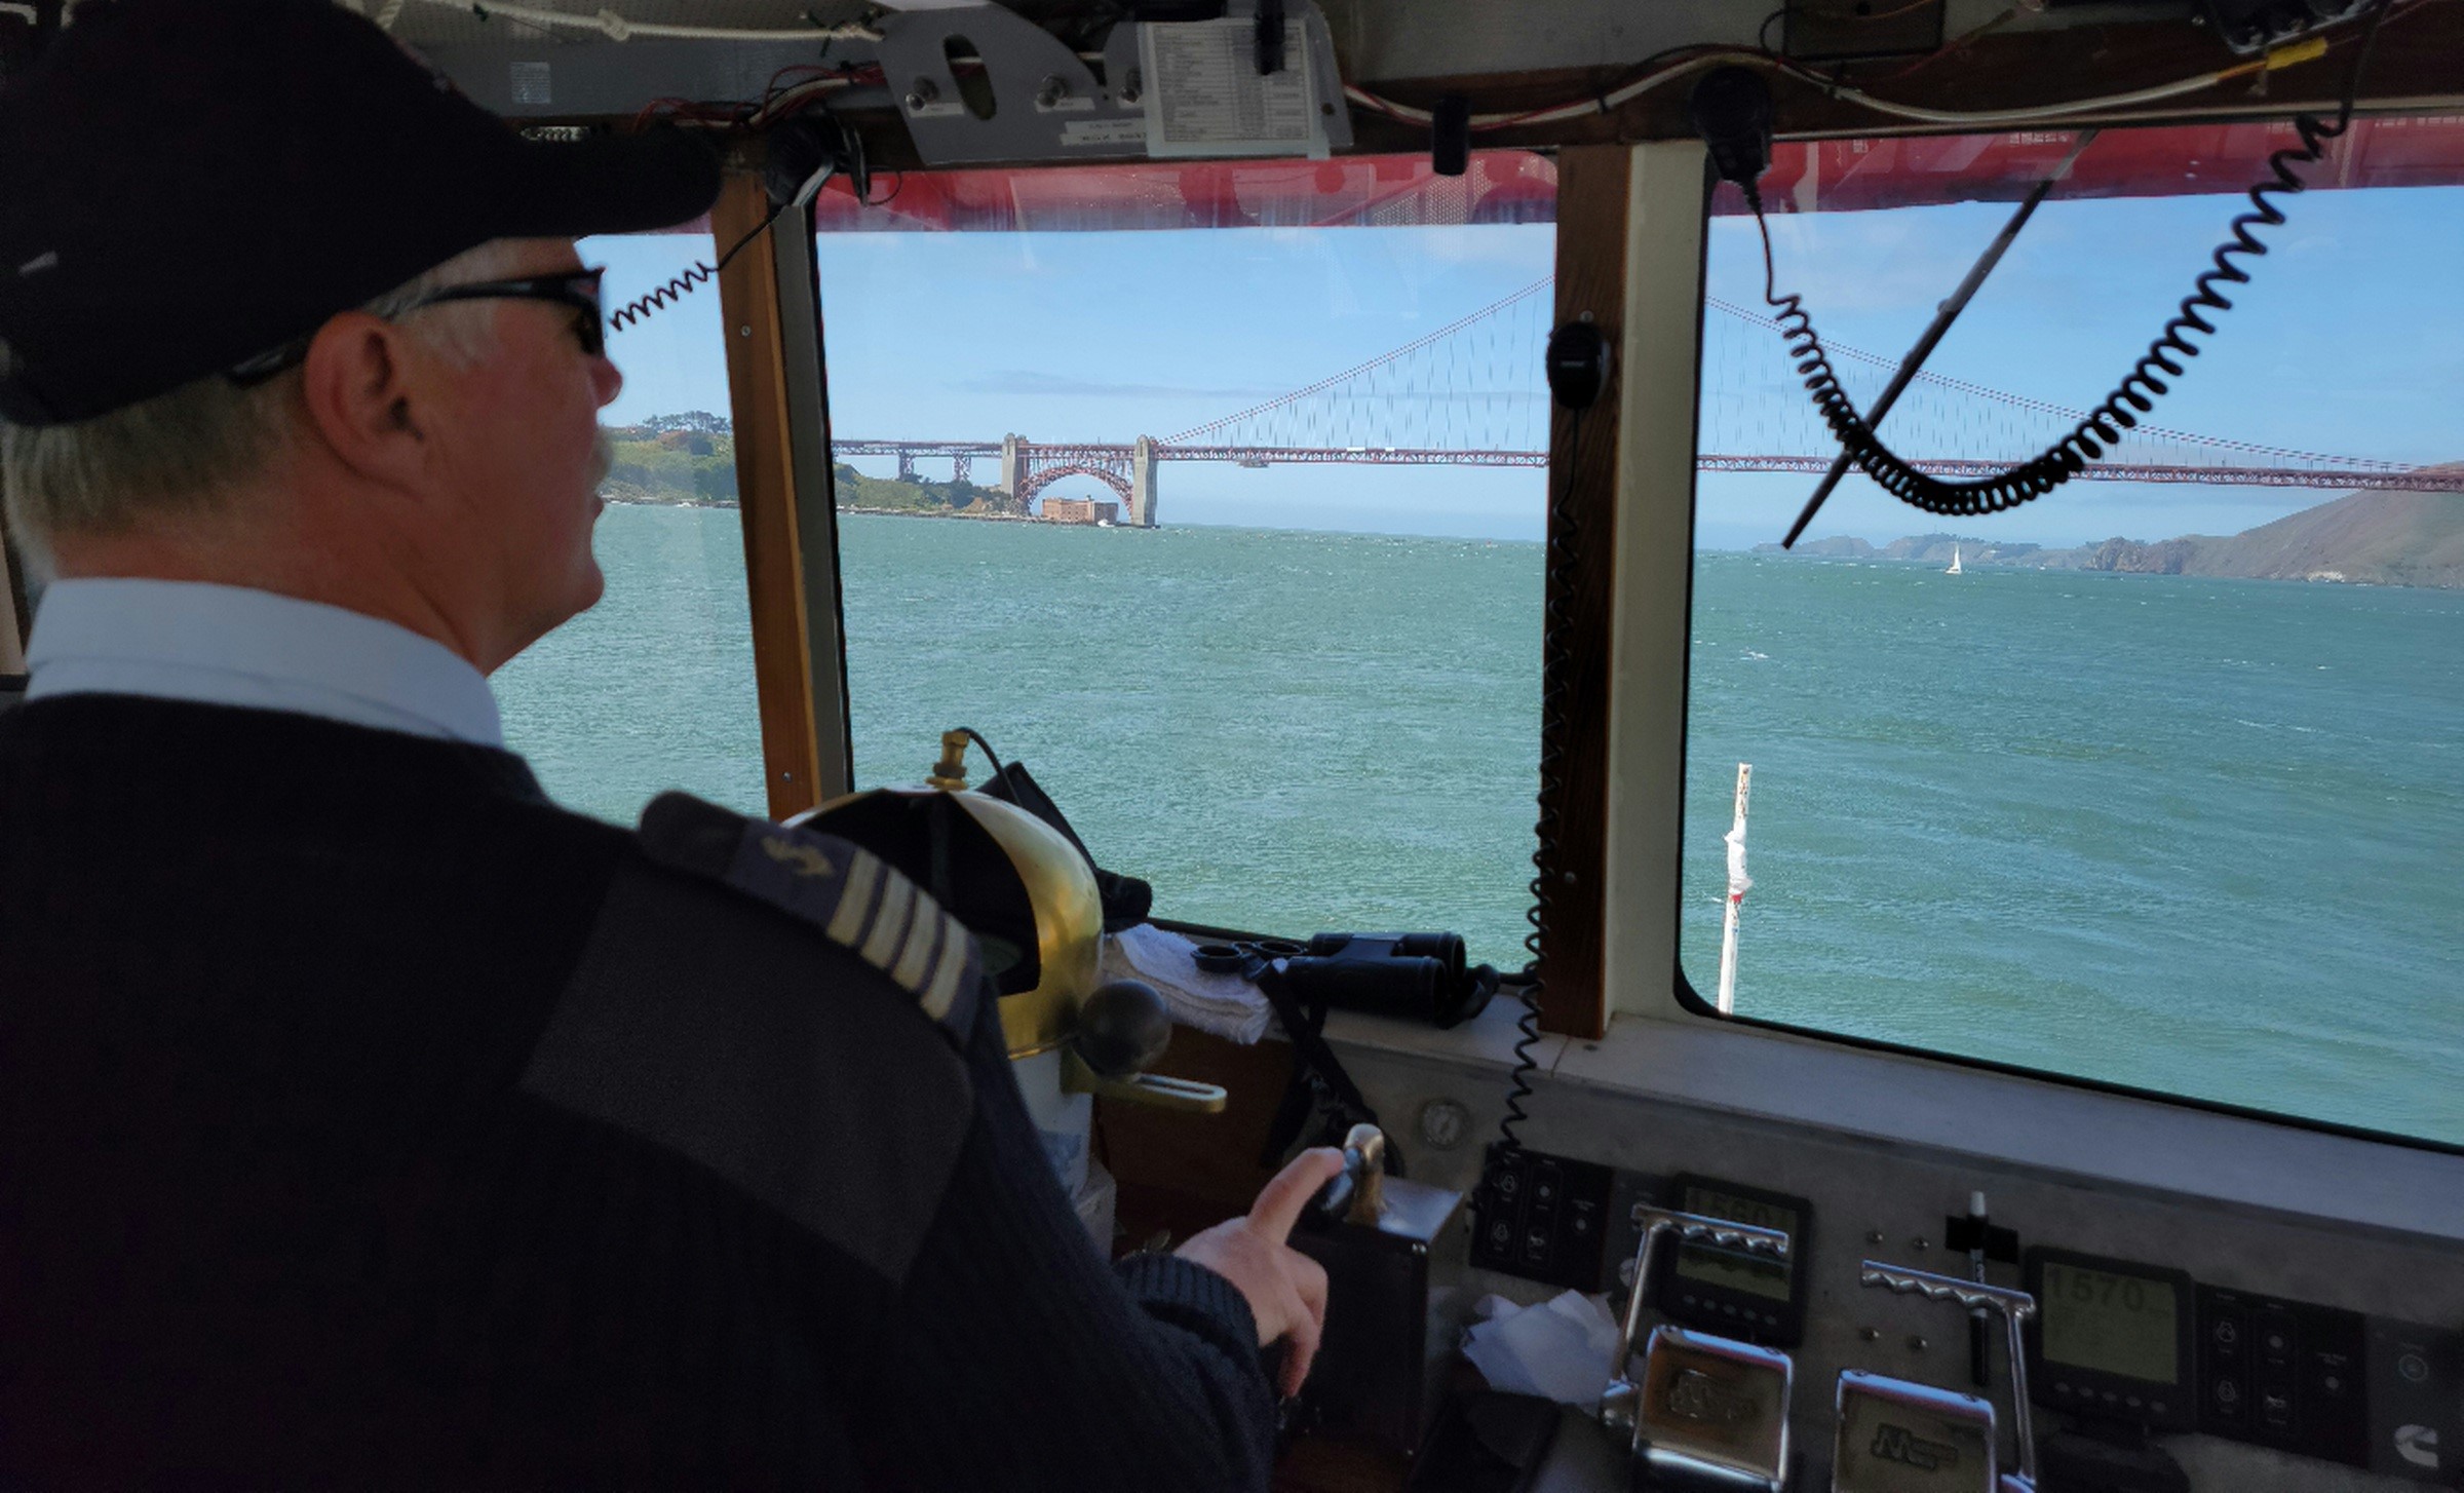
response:
[[[1779,544],[1754,549],[1781,552]],[[1974,535],[1910,535],[1875,547],[1841,535],[1799,544],[1794,554],[1922,564],[1949,564],[1956,554],[1966,567],[2464,589],[2464,493],[2346,493],[2227,537],[2181,535],[2156,542],[2114,537],[2075,549],[2045,549]]]

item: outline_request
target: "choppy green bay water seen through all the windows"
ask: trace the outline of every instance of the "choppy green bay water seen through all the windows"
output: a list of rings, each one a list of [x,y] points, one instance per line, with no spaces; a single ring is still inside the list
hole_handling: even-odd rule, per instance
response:
[[[1158,912],[1523,961],[1540,547],[843,515],[865,786],[1025,761]],[[732,510],[498,675],[564,803],[761,808]],[[1737,1010],[2464,1143],[2464,596],[1703,554],[1683,963]],[[981,766],[976,769],[981,774]]]

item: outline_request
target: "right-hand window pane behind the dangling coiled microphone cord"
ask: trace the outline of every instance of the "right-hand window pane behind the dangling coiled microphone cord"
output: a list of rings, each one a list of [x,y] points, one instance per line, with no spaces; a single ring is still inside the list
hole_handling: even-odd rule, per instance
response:
[[[1880,434],[2011,463],[2208,269],[2282,126],[2107,133]],[[1868,409],[2072,136],[1833,140],[1767,200]],[[2464,1143],[2464,121],[2363,121],[2257,229],[2134,480],[1932,517],[1848,478],[1752,217],[1710,234],[1685,981],[1735,1013]],[[2447,466],[2442,466],[2447,463]],[[2427,468],[2427,471],[2415,471]]]

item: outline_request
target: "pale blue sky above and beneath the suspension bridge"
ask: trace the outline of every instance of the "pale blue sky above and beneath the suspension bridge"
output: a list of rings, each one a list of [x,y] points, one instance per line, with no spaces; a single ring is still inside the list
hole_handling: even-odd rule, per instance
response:
[[[2089,404],[2171,315],[2240,204],[2050,202],[1929,367]],[[1806,296],[1831,342],[1897,355],[2006,217],[2003,204],[1779,217],[1779,281]],[[2154,419],[2311,451],[2464,458],[2464,278],[2454,276],[2464,190],[2319,192],[2294,200],[2289,217],[2255,283],[2235,293],[2213,352]],[[833,426],[843,436],[986,441],[1003,431],[1040,441],[1168,436],[1528,286],[1550,271],[1552,239],[1545,224],[828,234]],[[680,234],[586,246],[609,264],[618,303],[707,251],[707,239]],[[1762,303],[1747,219],[1715,219],[1710,293]],[[727,409],[715,288],[618,333],[611,350],[628,379],[611,424]],[[1535,367],[1518,377],[1538,389]],[[1777,379],[1767,397],[1789,416],[1804,399]],[[1084,480],[1057,490],[1079,488],[1104,495]],[[1700,542],[1777,540],[1809,488],[1804,475],[1705,473]],[[2161,540],[2237,532],[2331,495],[2072,483],[2018,512],[1947,525],[1850,478],[1811,535],[1885,542],[1956,527],[2045,544]],[[1538,471],[1173,463],[1158,505],[1165,522],[1528,540],[1540,535],[1542,498]]]

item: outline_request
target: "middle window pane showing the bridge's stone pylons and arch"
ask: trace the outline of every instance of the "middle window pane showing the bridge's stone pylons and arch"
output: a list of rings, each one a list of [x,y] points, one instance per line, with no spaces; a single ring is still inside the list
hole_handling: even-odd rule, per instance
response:
[[[1451,929],[1520,968],[1552,182],[1483,155],[825,192],[857,783],[976,727],[1158,916]]]

